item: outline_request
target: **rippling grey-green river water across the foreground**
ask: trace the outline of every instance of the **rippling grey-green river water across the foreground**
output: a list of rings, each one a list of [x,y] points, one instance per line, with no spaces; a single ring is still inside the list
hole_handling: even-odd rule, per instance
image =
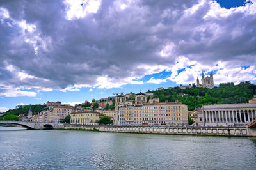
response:
[[[0,127],[0,169],[256,169],[256,138]]]

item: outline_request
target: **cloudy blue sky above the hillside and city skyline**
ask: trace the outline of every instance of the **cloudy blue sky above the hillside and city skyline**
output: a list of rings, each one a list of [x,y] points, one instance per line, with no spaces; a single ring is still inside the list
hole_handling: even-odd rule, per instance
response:
[[[192,84],[256,84],[256,0],[0,0],[0,112]]]

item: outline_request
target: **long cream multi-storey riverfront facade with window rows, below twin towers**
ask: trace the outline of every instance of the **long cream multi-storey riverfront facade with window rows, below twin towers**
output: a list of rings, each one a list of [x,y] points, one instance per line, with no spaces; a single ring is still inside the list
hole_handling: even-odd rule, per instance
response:
[[[187,125],[188,107],[182,103],[120,106],[118,125]]]

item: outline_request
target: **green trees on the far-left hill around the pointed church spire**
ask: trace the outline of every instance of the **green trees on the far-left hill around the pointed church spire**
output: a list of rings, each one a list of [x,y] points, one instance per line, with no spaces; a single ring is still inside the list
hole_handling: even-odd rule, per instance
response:
[[[30,105],[19,105],[18,108],[10,109],[8,110],[3,116],[6,116],[7,114],[13,114],[19,116],[20,114],[28,115]],[[36,104],[31,105],[32,113],[35,114],[37,112],[41,112],[45,109],[45,105]]]

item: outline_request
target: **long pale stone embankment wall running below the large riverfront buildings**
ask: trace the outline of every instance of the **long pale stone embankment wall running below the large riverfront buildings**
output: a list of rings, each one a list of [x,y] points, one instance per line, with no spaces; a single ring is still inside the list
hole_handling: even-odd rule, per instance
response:
[[[256,129],[246,127],[144,127],[100,126],[100,132],[125,132],[138,134],[218,135],[256,137]]]

